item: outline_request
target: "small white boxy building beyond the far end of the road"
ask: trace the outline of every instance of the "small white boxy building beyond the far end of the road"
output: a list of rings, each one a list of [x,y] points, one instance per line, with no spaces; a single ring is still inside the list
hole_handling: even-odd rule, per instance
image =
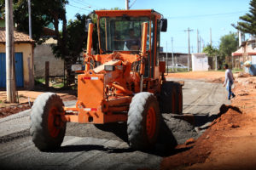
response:
[[[192,71],[208,71],[208,56],[206,53],[192,54]]]

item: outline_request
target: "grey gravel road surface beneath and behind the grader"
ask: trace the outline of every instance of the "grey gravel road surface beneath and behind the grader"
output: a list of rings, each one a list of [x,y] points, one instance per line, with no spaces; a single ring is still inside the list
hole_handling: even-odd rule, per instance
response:
[[[186,80],[183,113],[195,115],[195,127],[204,126],[212,121],[220,105],[228,104],[224,90],[221,84]],[[166,143],[161,142],[150,152],[129,149],[124,123],[110,126],[68,123],[61,148],[40,152],[29,136],[29,114],[30,111],[23,111],[0,119],[1,169],[158,169],[162,156],[174,154],[167,152]],[[166,127],[171,128],[163,135],[167,144],[171,144],[168,139],[183,143],[201,133],[195,132],[189,123],[172,123],[172,116],[164,114],[163,117]]]

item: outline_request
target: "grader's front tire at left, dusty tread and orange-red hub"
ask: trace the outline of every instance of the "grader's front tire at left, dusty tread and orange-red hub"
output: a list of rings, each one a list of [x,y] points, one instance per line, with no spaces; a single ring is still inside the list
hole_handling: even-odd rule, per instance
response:
[[[66,132],[66,122],[58,113],[63,112],[63,102],[54,93],[40,94],[32,106],[30,133],[39,150],[55,150],[61,146]]]

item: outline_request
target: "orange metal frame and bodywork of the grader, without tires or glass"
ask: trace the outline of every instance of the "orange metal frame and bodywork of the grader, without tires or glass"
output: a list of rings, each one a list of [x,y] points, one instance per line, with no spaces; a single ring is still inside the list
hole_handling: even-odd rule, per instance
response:
[[[119,11],[96,11],[98,15],[98,23],[101,17],[149,17],[149,22],[154,22],[157,26],[161,15],[154,12],[153,10],[119,10]],[[143,39],[142,39],[142,50],[140,53],[122,53],[113,52],[113,54],[91,54],[91,42],[92,42],[92,30],[93,25],[89,25],[88,31],[88,43],[86,54],[84,54],[84,74],[80,74],[78,77],[78,101],[75,108],[65,108],[64,111],[73,111],[69,114],[65,114],[65,120],[67,122],[79,122],[79,123],[107,123],[107,122],[125,122],[127,121],[127,112],[129,110],[129,105],[134,93],[148,91],[153,94],[160,92],[161,80],[164,80],[163,73],[165,65],[150,65],[154,67],[154,72],[150,71],[153,77],[143,79],[144,74],[145,59],[156,60],[156,48],[157,44],[154,44],[154,54],[148,49],[146,51],[147,42],[147,31],[148,23],[143,23]],[[151,28],[151,27],[150,27]],[[152,31],[149,29],[149,31]],[[98,28],[98,32],[100,32]],[[100,35],[98,35],[100,37]],[[157,29],[154,29],[153,33],[154,39],[157,36]],[[151,37],[151,34],[150,34]],[[150,38],[149,37],[149,38]],[[101,37],[100,37],[101,38]],[[102,49],[100,49],[102,51]],[[149,55],[148,55],[149,54]],[[90,60],[93,59],[94,62],[101,62],[102,65],[90,70]],[[142,61],[140,64],[140,71],[134,79],[131,80],[131,65],[134,62]],[[151,60],[150,60],[151,61]],[[152,62],[152,61],[151,61]],[[151,63],[150,62],[150,63]],[[113,66],[113,71],[105,71],[104,66]],[[135,91],[127,89],[126,82],[133,81],[135,85]],[[150,87],[143,89],[146,83]],[[114,96],[110,96],[107,99],[106,88],[111,88],[115,91]],[[92,99],[93,98],[93,99]],[[119,114],[114,114],[119,113]]]

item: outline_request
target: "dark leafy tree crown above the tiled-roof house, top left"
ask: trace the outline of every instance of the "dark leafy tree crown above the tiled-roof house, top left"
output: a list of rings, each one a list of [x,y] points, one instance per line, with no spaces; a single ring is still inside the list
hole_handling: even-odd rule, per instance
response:
[[[14,0],[14,21],[18,31],[28,33],[28,7],[27,0]],[[65,4],[67,0],[33,0],[32,8],[32,38],[36,42],[44,42],[43,29],[50,23],[57,25],[61,20],[67,24]],[[0,12],[4,14],[5,1],[0,0]]]

